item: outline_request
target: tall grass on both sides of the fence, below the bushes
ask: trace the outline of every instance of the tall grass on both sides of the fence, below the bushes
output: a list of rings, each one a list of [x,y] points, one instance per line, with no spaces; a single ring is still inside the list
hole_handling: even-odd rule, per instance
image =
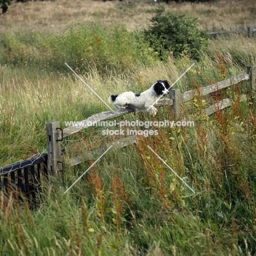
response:
[[[202,54],[201,60],[176,84],[182,92],[211,84],[223,75],[229,78],[245,72],[234,62],[223,62],[221,54],[214,61]],[[169,63],[156,63],[126,74],[109,71],[102,75],[91,69],[82,76],[107,100],[113,92],[147,89],[160,77],[169,76],[174,82],[191,63],[183,56],[172,68]],[[82,120],[106,110],[71,75],[45,75],[44,71],[36,77],[27,70],[33,69],[25,67],[22,73],[2,67],[1,158],[6,163],[44,149],[45,121],[60,120],[63,127],[65,120]],[[16,79],[11,79],[15,73]],[[235,100],[239,90],[225,93],[234,98],[230,108],[203,118],[200,113],[205,103],[196,98],[187,106],[195,119],[199,117],[195,127],[154,127],[158,136],[139,138],[136,146],[112,149],[66,194],[93,161],[66,165],[61,187],[57,182],[43,182],[36,205],[19,199],[15,192],[1,194],[2,254],[253,255],[255,108]],[[156,117],[141,113],[125,118],[171,120],[172,115],[160,108]],[[112,139],[102,138],[96,128],[78,133],[62,146],[69,158]]]

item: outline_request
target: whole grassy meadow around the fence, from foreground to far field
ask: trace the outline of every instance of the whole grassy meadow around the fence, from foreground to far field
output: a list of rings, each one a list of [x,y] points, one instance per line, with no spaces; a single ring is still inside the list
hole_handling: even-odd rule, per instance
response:
[[[165,4],[166,11],[199,18],[202,31],[256,28],[254,1]],[[143,38],[153,1],[31,1],[0,15],[0,166],[46,153],[45,123],[80,121],[123,91],[141,92],[156,80],[176,81],[181,92],[246,73],[256,65],[255,36],[208,39],[194,61],[187,53],[161,61]],[[256,109],[249,84],[222,95],[195,97],[183,106],[194,127],[153,127],[136,145],[112,148],[66,194],[93,161],[65,163],[63,183],[42,181],[31,204],[0,194],[1,255],[255,255]],[[240,102],[239,95],[248,101]],[[210,117],[202,109],[231,97]],[[117,120],[173,120],[127,114]],[[119,136],[91,127],[65,138],[64,159]],[[138,129],[137,129],[138,130]],[[120,137],[121,138],[121,137]],[[149,150],[152,148],[192,191]]]

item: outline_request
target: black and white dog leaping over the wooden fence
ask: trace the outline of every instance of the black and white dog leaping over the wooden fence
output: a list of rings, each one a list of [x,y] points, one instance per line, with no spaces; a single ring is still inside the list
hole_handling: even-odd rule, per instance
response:
[[[153,107],[160,96],[167,96],[170,84],[167,80],[158,80],[147,91],[141,94],[135,94],[132,91],[126,91],[119,95],[111,95],[108,98],[109,104],[113,103],[117,109],[134,108],[135,114],[143,111],[150,111],[154,116],[158,110]]]

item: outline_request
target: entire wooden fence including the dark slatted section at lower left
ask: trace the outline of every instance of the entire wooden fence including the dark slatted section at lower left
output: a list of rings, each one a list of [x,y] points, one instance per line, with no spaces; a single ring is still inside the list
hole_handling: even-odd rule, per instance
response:
[[[248,66],[247,73],[242,73],[236,77],[218,82],[213,85],[208,85],[206,87],[201,87],[199,89],[190,90],[181,94],[179,89],[174,89],[170,91],[170,98],[165,100],[160,100],[155,106],[167,106],[170,107],[176,119],[180,118],[182,115],[181,107],[183,103],[193,100],[197,96],[209,95],[212,92],[222,90],[231,85],[236,85],[240,82],[248,81],[248,90],[255,92],[255,67]],[[240,101],[247,100],[246,95],[240,95]],[[230,98],[225,98],[212,106],[203,109],[205,115],[210,115],[216,111],[216,109],[223,109],[230,106]],[[61,141],[63,138],[70,136],[82,129],[88,129],[91,125],[86,125],[86,123],[98,122],[103,120],[108,120],[128,113],[133,112],[132,109],[121,109],[113,110],[108,112],[101,112],[92,115],[91,117],[83,120],[84,126],[71,126],[61,129],[59,121],[51,121],[46,123],[46,138],[47,138],[47,149],[48,153],[39,156],[38,158],[25,160],[18,162],[14,165],[9,165],[7,167],[0,168],[0,189],[14,187],[21,191],[28,192],[33,190],[38,186],[40,182],[40,176],[44,174],[46,177],[54,176],[56,173],[59,175],[63,172],[63,152],[61,149]],[[104,151],[113,145],[117,148],[125,147],[129,144],[136,142],[136,136],[130,136],[121,138],[118,141],[109,142],[106,146],[101,147],[95,152],[85,152],[84,154],[74,156],[68,159],[69,165],[77,165],[83,161],[93,160],[99,154],[103,154]],[[85,149],[86,151],[86,149]],[[61,177],[62,175],[60,175]]]

